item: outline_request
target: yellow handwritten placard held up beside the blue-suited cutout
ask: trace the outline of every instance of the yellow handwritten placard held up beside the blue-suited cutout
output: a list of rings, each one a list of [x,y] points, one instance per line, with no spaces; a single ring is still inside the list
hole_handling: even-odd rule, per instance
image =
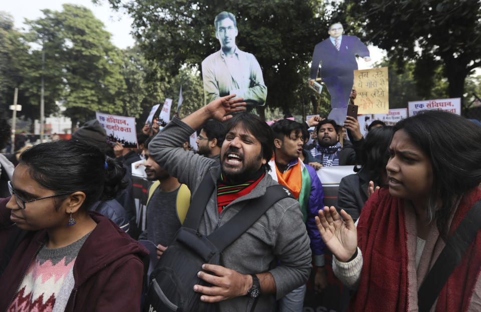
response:
[[[387,67],[355,70],[353,89],[357,92],[354,103],[359,106],[359,115],[389,112]]]

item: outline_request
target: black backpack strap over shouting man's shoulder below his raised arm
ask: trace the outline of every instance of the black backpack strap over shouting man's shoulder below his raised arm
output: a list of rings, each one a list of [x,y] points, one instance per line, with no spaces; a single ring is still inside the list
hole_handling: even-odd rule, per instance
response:
[[[192,195],[189,210],[187,210],[182,227],[188,227],[197,230],[199,227],[200,218],[204,213],[205,206],[207,205],[210,196],[212,196],[214,188],[215,183],[210,176],[210,170],[208,170],[202,179],[202,182],[200,182],[200,185],[197,187],[197,190],[195,190],[194,195]]]

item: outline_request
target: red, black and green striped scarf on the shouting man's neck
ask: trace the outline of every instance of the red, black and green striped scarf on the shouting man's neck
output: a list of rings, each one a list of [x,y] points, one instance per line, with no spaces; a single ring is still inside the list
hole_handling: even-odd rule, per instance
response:
[[[229,184],[225,180],[224,174],[220,174],[220,179],[217,180],[217,209],[219,210],[219,213],[232,201],[249,194],[249,192],[257,186],[259,181],[261,181],[266,174],[266,171],[264,171],[263,168],[261,169],[262,171],[258,171],[253,179],[237,185]],[[259,177],[258,174],[261,174],[261,176]]]

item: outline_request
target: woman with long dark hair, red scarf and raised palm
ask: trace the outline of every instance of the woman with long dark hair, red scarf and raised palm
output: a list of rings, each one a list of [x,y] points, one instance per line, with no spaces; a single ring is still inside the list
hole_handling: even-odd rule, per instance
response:
[[[357,228],[334,207],[316,217],[335,274],[357,290],[350,311],[417,311],[419,287],[447,237],[481,199],[481,127],[425,111],[399,121],[394,132],[389,189],[371,195]],[[480,271],[477,231],[430,311],[480,311]]]

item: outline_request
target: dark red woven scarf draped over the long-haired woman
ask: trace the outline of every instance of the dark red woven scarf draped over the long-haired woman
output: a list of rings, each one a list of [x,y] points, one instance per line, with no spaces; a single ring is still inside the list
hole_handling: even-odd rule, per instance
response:
[[[452,218],[449,234],[480,198],[481,190],[476,187],[461,200]],[[388,189],[380,189],[371,195],[362,209],[357,235],[363,265],[359,287],[351,300],[349,311],[406,312],[417,309],[417,306],[409,306],[409,303],[417,302],[409,302],[408,287],[410,283],[419,285],[422,281],[409,281],[404,209],[403,200],[392,197]],[[432,258],[431,266],[434,261]],[[435,311],[466,311],[480,270],[481,231],[478,231],[441,289]]]

